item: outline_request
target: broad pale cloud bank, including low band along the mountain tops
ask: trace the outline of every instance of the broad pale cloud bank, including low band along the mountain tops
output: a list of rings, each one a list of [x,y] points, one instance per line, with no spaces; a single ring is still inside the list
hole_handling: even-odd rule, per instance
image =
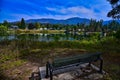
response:
[[[19,20],[24,17],[27,19],[40,19],[40,18],[53,18],[53,19],[67,19],[71,17],[80,17],[80,18],[94,18],[94,19],[104,19],[108,20],[106,17],[106,12],[100,11],[99,13],[95,12],[95,7],[92,8],[86,8],[83,6],[75,6],[75,7],[68,7],[68,8],[53,8],[53,7],[46,7],[47,10],[57,12],[57,14],[50,14],[46,13],[44,15],[42,14],[13,14],[12,16],[17,17]],[[62,14],[62,15],[61,15]]]

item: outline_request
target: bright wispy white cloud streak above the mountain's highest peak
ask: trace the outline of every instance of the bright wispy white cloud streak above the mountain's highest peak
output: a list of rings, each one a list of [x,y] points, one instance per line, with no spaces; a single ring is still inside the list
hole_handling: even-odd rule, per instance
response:
[[[75,7],[68,7],[68,8],[46,8],[49,11],[57,12],[63,15],[73,15],[78,17],[85,17],[85,18],[96,18],[96,14],[92,9],[85,8],[83,6],[75,6]]]

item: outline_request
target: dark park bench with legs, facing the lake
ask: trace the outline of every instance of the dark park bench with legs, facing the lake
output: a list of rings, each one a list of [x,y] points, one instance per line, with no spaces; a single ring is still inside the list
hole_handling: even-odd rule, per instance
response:
[[[54,59],[53,62],[47,62],[46,64],[46,78],[50,77],[50,80],[53,79],[53,75],[55,75],[55,71],[59,71],[60,69],[66,69],[68,67],[78,66],[80,64],[84,63],[91,63],[95,61],[100,61],[100,69],[99,72],[102,73],[102,65],[103,60],[101,58],[101,53],[87,53],[87,54],[81,54],[76,55],[72,57],[66,57],[66,58],[59,58]]]

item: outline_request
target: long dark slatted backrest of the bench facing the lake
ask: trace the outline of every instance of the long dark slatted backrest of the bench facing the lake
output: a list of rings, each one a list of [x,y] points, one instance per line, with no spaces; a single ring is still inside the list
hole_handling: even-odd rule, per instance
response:
[[[100,58],[100,55],[101,55],[101,53],[87,53],[87,54],[66,57],[66,58],[54,59],[52,66],[54,68],[57,68],[57,67],[61,67],[61,66],[75,64],[75,63],[82,64],[82,63],[87,63],[87,62],[91,62],[91,61],[96,61]]]

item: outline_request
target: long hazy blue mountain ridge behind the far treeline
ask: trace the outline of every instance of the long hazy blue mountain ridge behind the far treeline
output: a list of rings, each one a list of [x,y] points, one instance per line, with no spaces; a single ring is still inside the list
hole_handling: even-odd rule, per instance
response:
[[[73,17],[65,20],[56,20],[56,19],[47,19],[47,18],[26,20],[26,23],[35,23],[35,22],[51,23],[51,24],[77,24],[77,23],[88,24],[90,20],[85,18],[79,18],[79,17]]]

